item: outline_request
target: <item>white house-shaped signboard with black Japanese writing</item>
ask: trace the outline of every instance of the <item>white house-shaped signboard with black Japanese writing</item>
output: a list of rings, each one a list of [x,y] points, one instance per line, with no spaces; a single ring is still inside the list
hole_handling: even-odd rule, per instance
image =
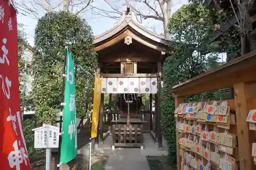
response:
[[[34,131],[34,148],[58,148],[59,127],[42,125]]]

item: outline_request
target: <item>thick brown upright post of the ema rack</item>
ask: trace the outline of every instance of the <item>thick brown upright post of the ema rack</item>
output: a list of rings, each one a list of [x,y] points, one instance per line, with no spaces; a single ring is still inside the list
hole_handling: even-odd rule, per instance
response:
[[[249,110],[255,109],[256,106],[255,87],[256,83],[234,84],[240,169],[256,169],[251,156],[252,142],[256,137],[254,131],[249,130],[249,124],[246,122]]]

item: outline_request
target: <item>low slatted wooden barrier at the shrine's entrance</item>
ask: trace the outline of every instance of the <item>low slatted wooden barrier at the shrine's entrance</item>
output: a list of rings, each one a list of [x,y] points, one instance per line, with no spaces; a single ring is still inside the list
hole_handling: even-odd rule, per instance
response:
[[[137,125],[118,125],[118,127],[113,125],[112,140],[112,149],[115,149],[115,147],[127,147],[143,150],[143,125],[140,125],[140,127]]]

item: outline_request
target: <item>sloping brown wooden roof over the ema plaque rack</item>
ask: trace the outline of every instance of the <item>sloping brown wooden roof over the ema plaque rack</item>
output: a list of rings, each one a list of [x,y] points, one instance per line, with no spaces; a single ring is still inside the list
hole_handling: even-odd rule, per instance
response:
[[[218,66],[169,90],[176,96],[188,96],[232,87],[240,82],[256,81],[256,50]]]

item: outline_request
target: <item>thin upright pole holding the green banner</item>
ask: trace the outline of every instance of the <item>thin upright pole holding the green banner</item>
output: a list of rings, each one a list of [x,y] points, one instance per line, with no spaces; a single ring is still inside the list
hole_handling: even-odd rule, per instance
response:
[[[58,147],[58,166],[57,166],[57,170],[59,170],[59,166],[60,166],[60,147],[61,147],[61,138],[62,138],[62,116],[63,116],[63,106],[62,103],[64,102],[64,88],[65,88],[65,81],[66,81],[66,77],[64,75],[66,75],[66,61],[67,61],[67,50],[68,47],[65,47],[65,57],[64,57],[64,64],[63,64],[63,74],[62,74],[62,88],[61,88],[61,106],[60,106],[60,116],[59,116],[59,147]]]

